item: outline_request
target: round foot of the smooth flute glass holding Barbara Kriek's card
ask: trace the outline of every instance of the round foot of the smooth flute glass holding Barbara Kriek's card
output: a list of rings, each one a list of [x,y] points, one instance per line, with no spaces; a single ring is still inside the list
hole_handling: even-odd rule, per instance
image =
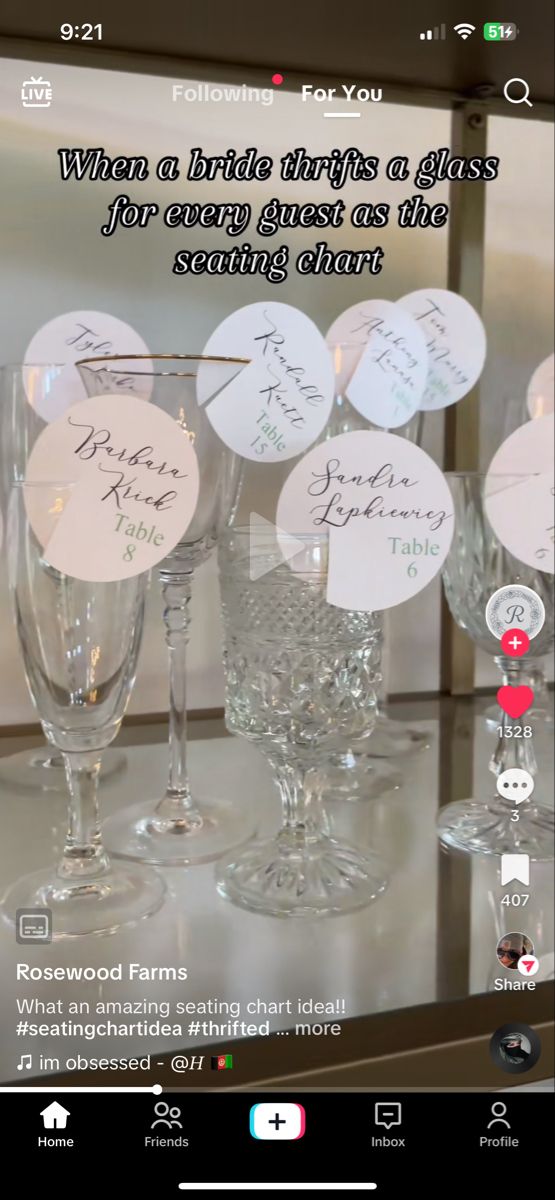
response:
[[[151,917],[163,902],[166,884],[156,871],[111,864],[103,875],[64,880],[50,870],[25,875],[8,889],[2,916],[16,923],[18,908],[49,908],[52,938],[115,934],[121,925]]]

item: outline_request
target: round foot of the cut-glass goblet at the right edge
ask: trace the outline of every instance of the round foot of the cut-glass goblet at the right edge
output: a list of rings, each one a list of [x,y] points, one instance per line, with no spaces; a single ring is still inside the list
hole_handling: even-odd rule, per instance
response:
[[[520,805],[519,820],[495,800],[455,800],[437,817],[440,841],[473,854],[529,854],[554,857],[554,812],[541,804]]]

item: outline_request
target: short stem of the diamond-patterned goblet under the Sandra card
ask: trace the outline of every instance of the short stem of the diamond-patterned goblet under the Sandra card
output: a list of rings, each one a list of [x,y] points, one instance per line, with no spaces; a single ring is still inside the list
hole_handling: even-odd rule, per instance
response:
[[[314,763],[284,762],[268,755],[275,773],[284,809],[280,832],[282,847],[303,851],[326,836],[328,822],[322,805],[323,779]]]

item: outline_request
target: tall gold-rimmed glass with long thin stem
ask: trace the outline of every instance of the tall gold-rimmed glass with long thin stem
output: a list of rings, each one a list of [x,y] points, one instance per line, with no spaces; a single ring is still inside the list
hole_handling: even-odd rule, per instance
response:
[[[241,479],[241,460],[220,440],[205,406],[198,403],[197,378],[203,376],[214,396],[246,361],[154,354],[148,359],[99,356],[77,364],[89,396],[132,392],[168,413],[175,420],[175,437],[181,434],[193,443],[199,473],[192,522],[183,541],[159,566],[169,655],[168,782],[157,799],[125,809],[106,822],[106,844],[123,858],[168,866],[210,862],[252,832],[247,806],[191,796],[185,688],[193,571],[205,562],[232,518]]]

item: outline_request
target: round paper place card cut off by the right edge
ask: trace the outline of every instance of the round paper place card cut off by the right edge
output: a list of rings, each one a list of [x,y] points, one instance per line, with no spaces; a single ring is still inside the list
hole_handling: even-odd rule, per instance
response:
[[[555,418],[526,421],[499,448],[485,479],[485,511],[502,546],[529,566],[554,571]]]

